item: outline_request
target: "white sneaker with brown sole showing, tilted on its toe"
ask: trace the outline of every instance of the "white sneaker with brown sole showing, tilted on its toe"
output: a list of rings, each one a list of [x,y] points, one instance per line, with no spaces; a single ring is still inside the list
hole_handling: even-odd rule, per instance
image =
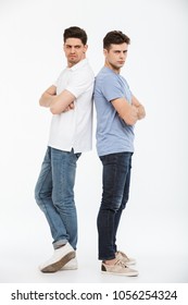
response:
[[[75,257],[75,251],[66,243],[64,246],[54,249],[52,257],[39,267],[41,272],[57,272],[72,258]]]

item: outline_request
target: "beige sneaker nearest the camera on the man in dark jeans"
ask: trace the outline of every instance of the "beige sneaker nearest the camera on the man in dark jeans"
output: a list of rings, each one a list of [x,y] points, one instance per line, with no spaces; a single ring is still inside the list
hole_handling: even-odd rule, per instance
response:
[[[122,260],[117,259],[114,265],[106,265],[102,263],[101,265],[102,273],[126,276],[126,277],[136,277],[138,271],[127,267]]]

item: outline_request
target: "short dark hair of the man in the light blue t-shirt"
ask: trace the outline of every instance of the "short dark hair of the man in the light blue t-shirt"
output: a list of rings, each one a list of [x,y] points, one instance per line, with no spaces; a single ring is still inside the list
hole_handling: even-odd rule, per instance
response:
[[[111,30],[103,38],[103,48],[110,49],[111,45],[130,44],[130,38],[121,30]]]

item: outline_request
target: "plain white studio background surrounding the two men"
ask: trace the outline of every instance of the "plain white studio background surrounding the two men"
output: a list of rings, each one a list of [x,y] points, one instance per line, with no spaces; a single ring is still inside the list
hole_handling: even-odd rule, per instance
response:
[[[136,126],[130,198],[118,244],[136,257],[138,278],[100,273],[101,163],[95,130],[93,149],[79,159],[75,186],[79,269],[38,271],[52,254],[48,224],[34,199],[51,120],[38,100],[66,64],[63,30],[72,25],[88,34],[95,73],[103,65],[106,32],[120,29],[131,39],[122,74],[147,118]],[[186,0],[0,1],[1,283],[188,281],[187,28]]]

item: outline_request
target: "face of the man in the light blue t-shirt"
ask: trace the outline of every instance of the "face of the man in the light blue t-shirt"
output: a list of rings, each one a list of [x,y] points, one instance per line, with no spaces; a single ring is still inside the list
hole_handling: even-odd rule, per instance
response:
[[[118,72],[127,58],[128,45],[111,45],[109,50],[104,49],[105,65]]]

